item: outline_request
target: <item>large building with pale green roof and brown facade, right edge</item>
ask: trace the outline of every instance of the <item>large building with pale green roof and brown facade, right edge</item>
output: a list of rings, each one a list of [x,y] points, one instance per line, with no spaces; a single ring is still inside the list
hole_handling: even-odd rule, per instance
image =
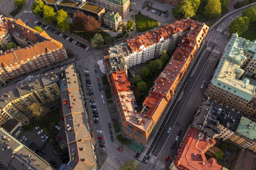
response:
[[[232,34],[226,51],[214,73],[206,93],[228,108],[255,120],[256,41]]]

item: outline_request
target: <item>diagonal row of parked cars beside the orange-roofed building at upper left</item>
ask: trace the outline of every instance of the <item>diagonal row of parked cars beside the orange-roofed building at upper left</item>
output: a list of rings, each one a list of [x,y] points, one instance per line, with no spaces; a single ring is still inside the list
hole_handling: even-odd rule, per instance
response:
[[[43,29],[46,29],[47,31],[50,31],[50,32],[56,34],[57,36],[60,36],[63,39],[66,39],[70,43],[73,43],[74,45],[77,45],[77,46],[83,48],[84,50],[89,50],[90,49],[89,46],[86,46],[83,43],[80,43],[79,41],[76,41],[76,40],[70,38],[66,34],[63,34],[62,32],[59,32],[59,31],[56,31],[55,29],[52,29],[48,25],[45,25],[44,22],[39,22],[38,20],[36,20],[35,24],[37,24],[38,26],[42,27]]]

